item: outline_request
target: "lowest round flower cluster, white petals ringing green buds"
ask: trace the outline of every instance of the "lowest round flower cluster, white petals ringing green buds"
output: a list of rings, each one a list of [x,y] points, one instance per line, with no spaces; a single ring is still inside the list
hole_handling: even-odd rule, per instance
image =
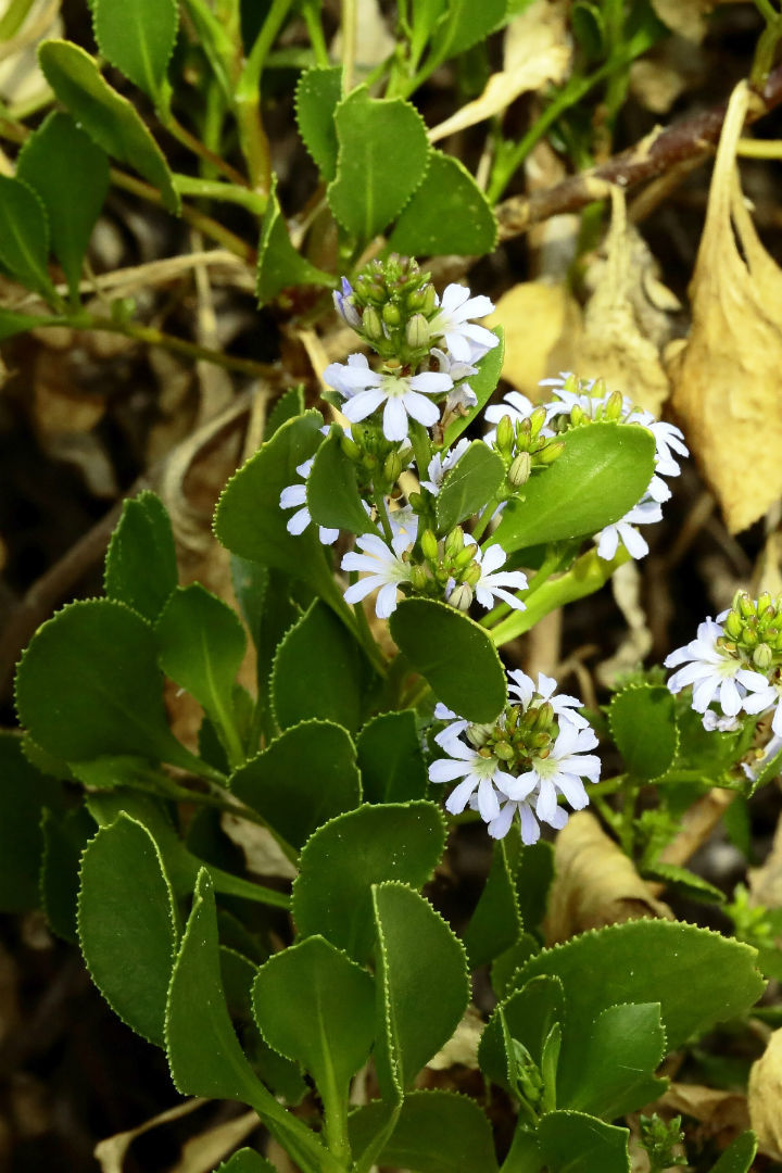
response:
[[[597,782],[600,760],[589,753],[598,741],[577,711],[576,697],[556,696],[556,680],[521,671],[508,673],[509,699],[491,725],[474,725],[437,705],[449,724],[435,737],[444,757],[429,766],[431,782],[461,779],[446,800],[451,814],[476,809],[489,834],[502,839],[518,815],[522,841],[537,842],[539,823],[560,829],[567,812],[559,796],[580,811],[589,802],[584,779]]]

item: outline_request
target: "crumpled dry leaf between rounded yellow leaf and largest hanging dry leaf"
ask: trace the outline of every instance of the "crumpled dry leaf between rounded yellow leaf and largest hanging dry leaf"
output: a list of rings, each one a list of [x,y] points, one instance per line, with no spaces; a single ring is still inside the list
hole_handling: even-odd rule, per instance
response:
[[[678,301],[659,280],[645,242],[627,223],[621,189],[611,189],[611,201],[605,259],[597,258],[587,277],[593,292],[572,369],[584,378],[605,379],[611,389],[659,415],[669,389],[660,345],[669,337],[668,311]]]

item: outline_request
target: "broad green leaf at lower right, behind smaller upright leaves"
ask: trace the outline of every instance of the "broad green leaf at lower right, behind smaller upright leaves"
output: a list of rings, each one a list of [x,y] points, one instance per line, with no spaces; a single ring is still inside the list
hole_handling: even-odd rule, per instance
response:
[[[640,964],[639,958],[642,958]],[[763,991],[755,950],[708,929],[671,921],[632,921],[584,933],[544,949],[521,970],[563,982],[569,1022],[559,1057],[559,1092],[567,1101],[585,1063],[586,1025],[611,1005],[659,1002],[668,1047],[718,1022],[744,1015]],[[589,983],[584,974],[590,975]]]

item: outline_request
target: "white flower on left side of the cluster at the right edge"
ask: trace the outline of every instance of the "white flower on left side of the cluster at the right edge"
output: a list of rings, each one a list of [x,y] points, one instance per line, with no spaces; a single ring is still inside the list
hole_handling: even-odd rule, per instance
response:
[[[719,623],[707,618],[698,625],[698,637],[684,647],[666,656],[666,667],[680,667],[668,680],[671,692],[693,686],[696,713],[705,713],[716,698],[726,717],[736,717],[747,690],[766,687],[768,680],[760,672],[744,667],[743,660],[732,656],[716,640],[723,635]]]

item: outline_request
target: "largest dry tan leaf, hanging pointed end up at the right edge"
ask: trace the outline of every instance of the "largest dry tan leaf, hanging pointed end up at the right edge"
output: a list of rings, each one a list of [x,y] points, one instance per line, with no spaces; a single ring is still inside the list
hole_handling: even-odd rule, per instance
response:
[[[671,364],[673,405],[732,534],[782,495],[782,271],[757,238],[735,168],[749,102],[741,82],[728,104],[691,284],[693,326]]]

